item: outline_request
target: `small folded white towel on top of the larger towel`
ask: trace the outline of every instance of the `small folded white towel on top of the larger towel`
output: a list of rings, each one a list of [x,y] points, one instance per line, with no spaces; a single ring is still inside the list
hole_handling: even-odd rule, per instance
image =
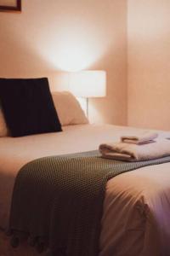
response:
[[[121,137],[121,141],[122,143],[133,144],[153,143],[157,136],[158,134],[156,132],[144,131],[136,136],[123,136]]]

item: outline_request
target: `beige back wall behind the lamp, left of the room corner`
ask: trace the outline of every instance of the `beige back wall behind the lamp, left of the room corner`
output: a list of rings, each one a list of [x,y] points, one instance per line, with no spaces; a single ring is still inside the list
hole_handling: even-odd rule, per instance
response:
[[[48,76],[103,69],[107,97],[90,101],[92,121],[127,123],[127,1],[22,0],[21,13],[0,13],[0,77]],[[58,75],[57,75],[58,73]]]

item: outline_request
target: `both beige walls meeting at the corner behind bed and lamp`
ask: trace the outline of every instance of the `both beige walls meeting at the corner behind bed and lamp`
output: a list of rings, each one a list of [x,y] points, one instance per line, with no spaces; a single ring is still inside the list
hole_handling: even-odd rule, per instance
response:
[[[0,77],[48,76],[65,90],[61,71],[103,69],[107,96],[90,100],[91,121],[170,130],[169,0],[22,5],[0,13]]]

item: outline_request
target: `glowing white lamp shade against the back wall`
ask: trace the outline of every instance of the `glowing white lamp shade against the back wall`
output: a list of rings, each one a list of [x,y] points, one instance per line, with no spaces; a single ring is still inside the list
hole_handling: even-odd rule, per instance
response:
[[[105,96],[105,71],[82,71],[70,73],[70,90],[77,97]]]

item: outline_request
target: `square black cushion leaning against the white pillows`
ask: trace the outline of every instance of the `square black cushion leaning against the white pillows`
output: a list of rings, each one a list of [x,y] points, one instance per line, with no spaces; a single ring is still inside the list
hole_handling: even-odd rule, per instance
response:
[[[12,137],[62,131],[48,79],[0,79],[0,101]]]

